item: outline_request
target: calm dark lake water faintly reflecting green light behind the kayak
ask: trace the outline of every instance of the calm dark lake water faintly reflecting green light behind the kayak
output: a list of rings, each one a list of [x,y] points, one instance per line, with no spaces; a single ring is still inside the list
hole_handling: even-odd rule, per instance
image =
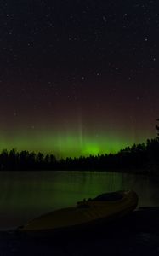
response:
[[[83,198],[133,189],[139,207],[159,206],[159,180],[112,172],[0,172],[0,230]]]

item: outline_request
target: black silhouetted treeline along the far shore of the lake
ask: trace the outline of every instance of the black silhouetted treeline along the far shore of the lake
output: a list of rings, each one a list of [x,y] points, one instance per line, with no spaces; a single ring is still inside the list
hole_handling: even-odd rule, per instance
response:
[[[159,119],[157,119],[159,121]],[[26,150],[0,154],[0,171],[109,171],[159,174],[159,126],[157,137],[147,139],[146,143],[133,144],[116,154],[100,154],[79,158],[67,157],[57,160],[54,154],[42,154]]]

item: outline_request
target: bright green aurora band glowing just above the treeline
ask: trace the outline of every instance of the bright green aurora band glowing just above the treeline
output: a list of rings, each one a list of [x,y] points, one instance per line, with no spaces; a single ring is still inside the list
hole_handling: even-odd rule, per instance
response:
[[[79,157],[98,154],[116,153],[120,149],[133,145],[132,139],[125,139],[112,134],[82,135],[76,133],[37,132],[14,135],[13,137],[0,137],[0,149],[28,150],[54,154],[58,158]],[[144,142],[141,138],[139,143]]]

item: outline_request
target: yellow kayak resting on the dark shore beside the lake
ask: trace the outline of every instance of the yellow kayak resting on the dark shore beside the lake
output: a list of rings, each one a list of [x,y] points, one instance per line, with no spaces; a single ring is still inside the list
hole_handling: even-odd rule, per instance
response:
[[[95,198],[77,202],[76,207],[66,207],[34,218],[19,228],[20,232],[78,230],[94,227],[126,216],[138,205],[138,195],[133,190],[105,193]]]

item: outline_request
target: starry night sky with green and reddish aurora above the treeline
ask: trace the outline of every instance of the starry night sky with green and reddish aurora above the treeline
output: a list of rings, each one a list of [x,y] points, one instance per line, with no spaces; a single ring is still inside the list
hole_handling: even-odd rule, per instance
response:
[[[158,0],[1,0],[0,149],[58,157],[156,137]]]

